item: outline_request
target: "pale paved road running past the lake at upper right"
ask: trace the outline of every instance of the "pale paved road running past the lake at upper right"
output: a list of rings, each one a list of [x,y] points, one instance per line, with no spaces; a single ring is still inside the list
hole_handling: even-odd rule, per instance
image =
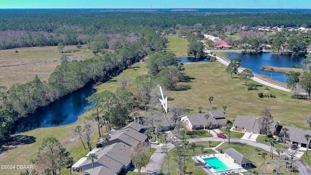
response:
[[[205,53],[209,53],[209,52],[215,52],[215,51],[206,50],[206,51],[204,51],[204,52],[205,52]],[[213,55],[210,54],[210,56],[213,56]],[[223,58],[220,57],[220,56],[217,56],[217,55],[216,55],[216,58],[217,58],[217,60],[218,60],[220,63],[224,64],[225,66],[228,66],[229,63],[230,63],[228,60],[225,60],[225,59],[223,59]],[[243,70],[244,70],[244,68],[239,68],[238,71],[241,73]],[[286,92],[291,92],[291,89],[284,88],[284,87],[281,87],[281,86],[279,86],[279,85],[276,85],[276,84],[267,82],[267,81],[265,81],[265,80],[262,80],[262,79],[260,79],[257,75],[255,75],[255,76],[252,78],[252,80],[254,80],[254,81],[256,81],[256,82],[258,82],[258,83],[260,83],[260,84],[262,84],[262,85],[271,87],[271,88],[276,88],[276,89],[283,90],[283,91],[286,91]]]

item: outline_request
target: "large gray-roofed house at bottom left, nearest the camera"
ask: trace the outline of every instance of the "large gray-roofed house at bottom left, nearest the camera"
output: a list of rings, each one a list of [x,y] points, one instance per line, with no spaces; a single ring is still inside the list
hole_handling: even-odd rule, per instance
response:
[[[94,169],[91,160],[82,157],[72,168],[75,172],[87,172],[90,175],[119,175],[127,170],[131,164],[128,151],[129,146],[124,143],[114,143],[98,150],[95,154]]]

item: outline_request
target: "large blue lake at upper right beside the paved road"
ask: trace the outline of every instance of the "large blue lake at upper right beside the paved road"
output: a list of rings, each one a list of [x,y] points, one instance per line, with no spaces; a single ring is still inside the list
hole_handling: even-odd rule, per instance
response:
[[[229,56],[230,55],[230,56]],[[290,55],[280,55],[272,53],[262,53],[262,54],[243,54],[243,53],[225,53],[225,56],[231,60],[234,57],[241,58],[241,67],[252,70],[256,74],[262,74],[271,77],[270,71],[261,71],[262,66],[275,66],[290,68],[294,65],[303,66],[300,62],[306,59],[306,56],[290,56]],[[272,72],[272,79],[285,82],[286,77],[284,73]]]

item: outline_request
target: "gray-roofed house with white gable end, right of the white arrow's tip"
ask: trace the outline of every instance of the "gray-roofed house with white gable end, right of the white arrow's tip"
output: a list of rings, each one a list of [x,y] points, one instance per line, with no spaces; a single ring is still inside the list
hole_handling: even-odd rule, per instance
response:
[[[209,115],[208,119],[205,117]],[[181,121],[189,130],[209,129],[207,123],[211,122],[211,128],[219,128],[227,123],[225,114],[222,110],[210,110],[207,113],[192,114],[181,117]]]

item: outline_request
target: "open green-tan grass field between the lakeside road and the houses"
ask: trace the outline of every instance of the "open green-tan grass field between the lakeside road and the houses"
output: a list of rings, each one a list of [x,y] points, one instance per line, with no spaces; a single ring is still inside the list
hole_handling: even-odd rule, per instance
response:
[[[210,110],[208,98],[213,96],[213,107],[222,109],[226,105],[226,116],[232,123],[237,115],[259,117],[261,109],[269,107],[274,120],[280,121],[280,124],[309,129],[305,117],[311,113],[310,102],[292,99],[289,92],[274,88],[266,90],[265,86],[254,81],[248,81],[248,84],[257,86],[259,90],[247,90],[245,82],[238,76],[231,78],[219,62],[186,63],[184,66],[184,73],[190,77],[190,82],[182,82],[179,86],[188,90],[173,91],[174,100],[168,105],[179,103],[189,108],[191,113],[198,113],[198,107],[202,106],[202,111],[206,112]],[[276,98],[259,98],[259,92],[272,93]]]

